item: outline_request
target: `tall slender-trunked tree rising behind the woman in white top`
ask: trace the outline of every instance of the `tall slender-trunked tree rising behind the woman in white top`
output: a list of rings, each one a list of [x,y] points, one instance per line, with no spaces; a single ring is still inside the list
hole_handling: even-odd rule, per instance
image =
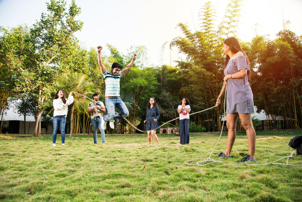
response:
[[[34,54],[31,60],[36,62],[35,79],[38,98],[38,115],[34,136],[37,135],[38,121],[40,120],[45,105],[45,100],[50,97],[52,89],[59,74],[64,67],[59,65],[59,58],[72,48],[75,41],[73,33],[81,30],[83,23],[74,18],[79,15],[80,8],[72,0],[69,12],[65,12],[64,0],[51,0],[47,4],[49,14],[42,13],[30,30],[31,44]]]

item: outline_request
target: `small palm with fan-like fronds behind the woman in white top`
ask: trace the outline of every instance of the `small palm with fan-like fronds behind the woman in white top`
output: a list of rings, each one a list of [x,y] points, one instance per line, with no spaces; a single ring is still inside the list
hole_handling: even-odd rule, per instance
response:
[[[85,95],[87,97],[93,94],[92,90],[95,89],[95,85],[91,82],[91,78],[88,78],[87,75],[83,73],[77,73],[68,71],[57,83],[58,88],[62,88],[67,92],[74,91],[79,94]],[[73,93],[74,101],[71,104],[70,110],[70,134],[71,137],[72,130],[73,130],[73,123],[76,123],[73,120],[74,111],[76,114],[81,112],[87,114],[87,106],[90,100],[86,99],[82,95]]]

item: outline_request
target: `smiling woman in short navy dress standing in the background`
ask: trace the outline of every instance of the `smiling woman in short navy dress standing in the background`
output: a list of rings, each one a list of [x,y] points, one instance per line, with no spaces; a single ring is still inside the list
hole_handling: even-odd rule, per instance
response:
[[[158,137],[155,134],[156,130],[159,129],[158,119],[159,119],[159,108],[156,104],[156,100],[155,98],[150,98],[147,104],[146,120],[144,121],[144,123],[146,124],[145,130],[147,131],[148,134],[149,145],[152,144],[151,135],[153,136],[156,143],[159,144]]]

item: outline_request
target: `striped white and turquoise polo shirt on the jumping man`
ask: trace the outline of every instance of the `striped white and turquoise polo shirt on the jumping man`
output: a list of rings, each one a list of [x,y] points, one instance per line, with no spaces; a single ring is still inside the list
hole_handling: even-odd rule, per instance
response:
[[[105,84],[106,84],[106,91],[105,96],[120,96],[120,78],[122,77],[121,71],[114,76],[108,70],[104,74]]]

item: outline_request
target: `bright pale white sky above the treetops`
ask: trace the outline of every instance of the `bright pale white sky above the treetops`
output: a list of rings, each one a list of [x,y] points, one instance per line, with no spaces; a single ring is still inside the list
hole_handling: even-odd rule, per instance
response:
[[[82,31],[75,35],[90,47],[106,44],[127,53],[130,46],[146,46],[149,64],[160,65],[160,48],[165,41],[182,35],[179,22],[187,23],[194,30],[193,19],[198,29],[198,12],[208,0],[76,0],[82,8],[77,17],[84,22]],[[0,0],[0,26],[16,27],[21,24],[31,26],[46,12],[46,0]],[[71,0],[67,0],[69,5]],[[212,0],[216,9],[218,25],[225,13],[227,0]],[[246,0],[239,23],[239,38],[249,42],[258,34],[276,37],[282,29],[283,18],[290,20],[290,30],[302,35],[302,0]],[[190,6],[191,5],[191,6]],[[192,12],[192,14],[191,14]],[[193,15],[193,19],[192,19]],[[173,48],[175,49],[175,48]],[[108,50],[107,50],[108,51]],[[162,64],[170,64],[169,44],[166,45]],[[172,51],[172,60],[183,57]],[[172,65],[176,65],[172,61]]]

